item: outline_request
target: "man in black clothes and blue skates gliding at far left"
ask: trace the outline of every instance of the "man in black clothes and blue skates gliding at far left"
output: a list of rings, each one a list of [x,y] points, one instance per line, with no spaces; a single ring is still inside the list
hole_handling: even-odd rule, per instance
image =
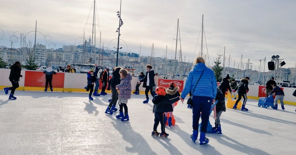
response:
[[[22,70],[21,64],[18,61],[15,62],[15,64],[13,64],[12,66],[10,66],[9,81],[11,82],[12,87],[3,88],[6,95],[8,94],[8,91],[11,90],[11,93],[8,99],[12,99],[12,100],[17,99],[13,95],[15,94],[15,89],[19,87],[18,82],[20,81],[20,78],[22,78],[22,75],[20,75],[21,70]]]

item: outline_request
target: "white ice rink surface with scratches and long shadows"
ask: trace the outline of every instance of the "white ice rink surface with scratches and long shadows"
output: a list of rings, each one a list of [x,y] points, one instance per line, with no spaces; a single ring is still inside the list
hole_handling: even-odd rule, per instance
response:
[[[222,135],[207,134],[208,145],[194,144],[192,110],[181,102],[174,109],[176,125],[166,127],[168,138],[151,137],[154,124],[152,97],[132,95],[130,121],[106,115],[111,94],[16,91],[8,100],[0,91],[0,154],[143,154],[143,155],[291,155],[296,152],[295,106],[285,111],[258,107],[248,99],[248,112],[226,109],[221,116]],[[186,101],[185,101],[186,102]],[[119,107],[117,106],[119,109]],[[213,113],[212,113],[213,114]],[[210,116],[214,124],[213,115]],[[160,131],[160,125],[158,127]]]

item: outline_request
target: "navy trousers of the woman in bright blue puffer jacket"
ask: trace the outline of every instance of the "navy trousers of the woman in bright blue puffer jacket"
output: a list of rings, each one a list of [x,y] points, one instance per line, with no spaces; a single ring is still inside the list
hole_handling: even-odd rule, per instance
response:
[[[206,133],[213,99],[207,96],[194,96],[194,95],[191,97],[191,99],[193,104],[192,128],[193,130],[198,130],[198,125],[200,121],[200,112],[201,112],[202,113],[201,131]]]

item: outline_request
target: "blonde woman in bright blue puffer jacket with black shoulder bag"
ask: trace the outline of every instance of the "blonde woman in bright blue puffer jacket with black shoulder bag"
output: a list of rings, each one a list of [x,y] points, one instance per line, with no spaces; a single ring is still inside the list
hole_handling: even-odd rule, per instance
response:
[[[200,145],[203,145],[209,142],[209,139],[205,137],[205,133],[207,132],[207,124],[209,121],[210,109],[217,93],[217,82],[214,72],[210,68],[207,68],[205,66],[205,60],[201,56],[198,56],[195,59],[194,64],[195,65],[188,74],[181,97],[184,101],[188,93],[192,91],[191,99],[193,108],[193,134],[191,135],[191,138],[192,141],[195,143],[198,136],[198,124],[201,112],[202,125],[200,131]],[[194,89],[195,85],[196,88]]]

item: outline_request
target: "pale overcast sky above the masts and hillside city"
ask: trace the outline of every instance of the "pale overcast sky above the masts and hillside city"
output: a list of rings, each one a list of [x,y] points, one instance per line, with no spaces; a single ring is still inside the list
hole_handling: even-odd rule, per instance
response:
[[[80,37],[91,36],[93,5],[92,0],[0,0],[0,28],[4,38],[0,45],[11,46],[9,38],[20,31],[24,34],[35,30],[37,20],[37,42],[55,43],[56,48],[65,45],[82,44]],[[150,55],[154,43],[155,56],[174,56],[176,50],[176,25],[180,22],[181,47],[183,58],[192,61],[199,52],[201,44],[201,22],[204,14],[205,38],[210,63],[220,52],[231,55],[230,66],[236,67],[243,55],[247,59],[264,59],[267,62],[272,55],[280,55],[287,63],[284,67],[295,67],[296,51],[296,1],[199,1],[199,0],[123,0],[121,17],[124,25],[120,28],[120,46],[141,55]],[[102,31],[104,47],[114,49],[118,33],[116,12],[120,0],[96,0],[99,17],[96,18],[96,46],[99,46],[99,31]],[[90,14],[89,14],[90,13]],[[88,18],[89,17],[89,18]],[[88,20],[87,20],[88,19]],[[99,23],[98,23],[99,21]],[[0,39],[3,33],[0,30]],[[27,41],[34,41],[33,33],[26,35]],[[50,41],[49,41],[50,40]],[[20,41],[20,39],[19,39]],[[19,47],[20,42],[13,44]],[[204,42],[205,43],[205,42]],[[101,44],[101,46],[102,46]],[[196,46],[197,44],[197,46]],[[196,47],[196,48],[195,48]],[[178,50],[180,49],[178,43]],[[172,50],[172,51],[170,51]],[[207,53],[208,52],[208,53]],[[178,57],[178,54],[177,54]],[[228,65],[228,60],[227,65]],[[209,60],[207,60],[209,62]],[[267,69],[266,62],[266,69]],[[250,61],[253,69],[259,67],[259,61]]]

